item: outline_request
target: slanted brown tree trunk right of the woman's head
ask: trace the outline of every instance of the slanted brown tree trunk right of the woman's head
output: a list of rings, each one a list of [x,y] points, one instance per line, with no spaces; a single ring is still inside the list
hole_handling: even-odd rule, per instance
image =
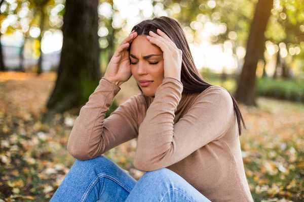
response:
[[[253,21],[251,23],[250,34],[247,41],[245,62],[235,94],[235,98],[245,105],[256,106],[256,67],[260,54],[264,51],[264,32],[271,15],[272,7],[273,0],[259,0],[256,5]]]

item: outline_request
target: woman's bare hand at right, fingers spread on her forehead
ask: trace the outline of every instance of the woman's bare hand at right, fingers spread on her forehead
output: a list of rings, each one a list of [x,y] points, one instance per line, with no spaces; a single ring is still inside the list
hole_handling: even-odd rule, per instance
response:
[[[164,77],[173,77],[180,81],[182,51],[177,48],[167,34],[160,29],[157,29],[157,32],[160,35],[150,31],[147,39],[159,46],[163,51]]]

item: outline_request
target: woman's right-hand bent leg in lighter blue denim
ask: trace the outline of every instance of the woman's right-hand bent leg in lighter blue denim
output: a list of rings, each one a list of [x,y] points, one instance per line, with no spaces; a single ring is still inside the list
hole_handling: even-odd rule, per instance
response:
[[[133,187],[126,202],[211,202],[175,172],[162,168],[143,174]]]

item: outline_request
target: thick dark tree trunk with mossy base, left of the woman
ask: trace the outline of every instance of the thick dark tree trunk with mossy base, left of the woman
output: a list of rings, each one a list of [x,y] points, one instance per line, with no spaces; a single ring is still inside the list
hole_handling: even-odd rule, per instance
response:
[[[47,103],[48,118],[80,108],[99,84],[98,1],[67,0],[63,44],[55,88]],[[43,121],[48,121],[43,118]]]

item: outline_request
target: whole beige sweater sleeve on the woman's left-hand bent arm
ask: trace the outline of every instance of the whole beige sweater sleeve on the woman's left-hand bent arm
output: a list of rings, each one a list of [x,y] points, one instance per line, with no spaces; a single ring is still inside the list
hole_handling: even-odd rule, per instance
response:
[[[109,149],[137,137],[135,96],[120,105],[104,119],[119,85],[102,77],[89,100],[80,110],[71,130],[67,149],[79,160],[94,159]]]

